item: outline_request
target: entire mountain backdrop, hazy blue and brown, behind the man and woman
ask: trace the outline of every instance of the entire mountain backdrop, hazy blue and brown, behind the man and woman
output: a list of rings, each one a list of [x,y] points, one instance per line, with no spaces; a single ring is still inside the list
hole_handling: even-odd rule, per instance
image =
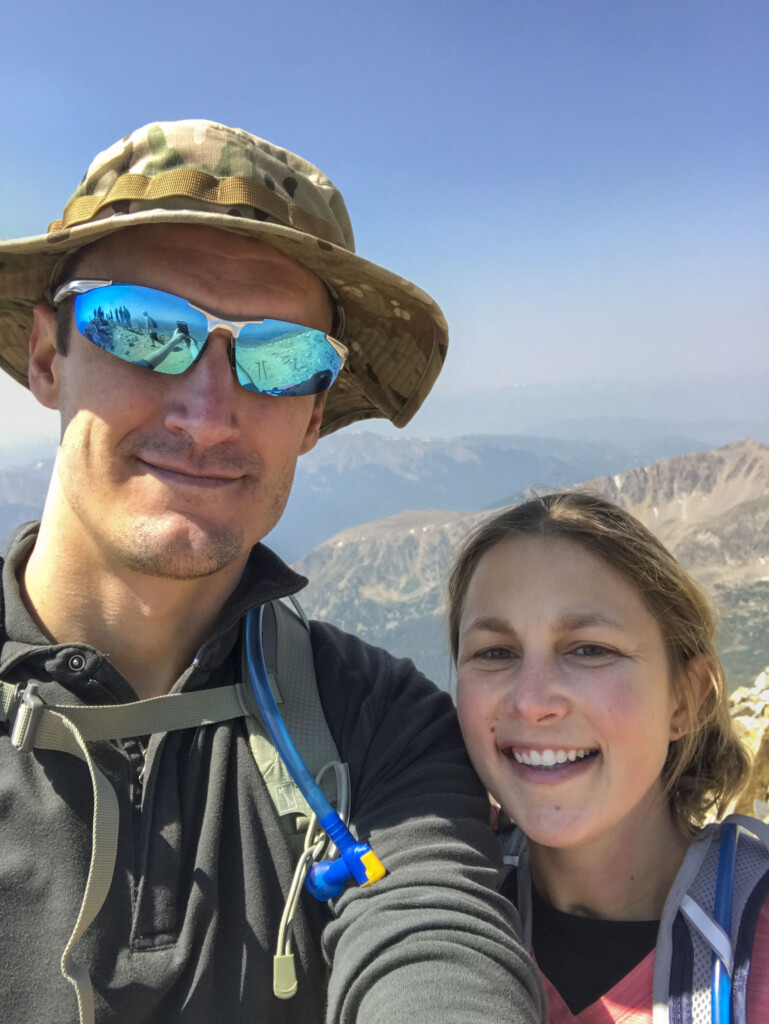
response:
[[[526,488],[544,493],[593,476],[585,486],[637,515],[711,590],[730,686],[751,685],[769,664],[769,447],[743,440],[665,458],[684,442],[426,441],[343,431],[300,460],[289,507],[267,543],[289,559],[313,548],[295,563],[310,579],[302,596],[310,614],[412,657],[448,688],[446,566],[467,530],[488,515],[479,510],[516,501]],[[643,463],[651,465],[628,469]],[[40,516],[52,465],[0,469],[0,544]],[[375,521],[351,525],[365,520]]]

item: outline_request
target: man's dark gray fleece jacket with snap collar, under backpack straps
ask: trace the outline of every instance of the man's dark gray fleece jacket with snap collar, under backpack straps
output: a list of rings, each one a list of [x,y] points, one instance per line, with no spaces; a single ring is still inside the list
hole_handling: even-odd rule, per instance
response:
[[[53,644],[17,577],[35,527],[2,566],[0,678],[47,702],[136,699],[109,656]],[[175,690],[240,678],[243,618],[306,581],[258,545]],[[498,895],[497,841],[451,699],[411,662],[313,623],[321,700],[349,764],[352,823],[388,868],[333,908],[308,894],[295,926],[299,991],[272,994],[293,862],[242,720],[92,744],[120,804],[104,906],[78,946],[99,1024],[538,1024],[544,996]],[[140,637],[137,638],[140,643]],[[59,958],[90,856],[86,766],[23,754],[0,725],[0,1021],[77,1022]]]

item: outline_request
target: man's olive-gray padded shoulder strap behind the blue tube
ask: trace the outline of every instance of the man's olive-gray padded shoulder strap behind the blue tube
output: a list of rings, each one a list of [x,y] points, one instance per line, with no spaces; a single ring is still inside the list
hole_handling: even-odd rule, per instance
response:
[[[275,703],[302,760],[310,773],[317,775],[329,762],[340,759],[317,692],[309,624],[298,605],[291,607],[283,601],[273,601],[264,606],[262,646]],[[248,681],[245,649],[243,671]],[[281,827],[292,851],[298,855],[309,807],[261,719],[249,717],[246,721],[251,751],[277,811]],[[334,803],[337,799],[334,773],[329,772],[326,779],[324,791]]]

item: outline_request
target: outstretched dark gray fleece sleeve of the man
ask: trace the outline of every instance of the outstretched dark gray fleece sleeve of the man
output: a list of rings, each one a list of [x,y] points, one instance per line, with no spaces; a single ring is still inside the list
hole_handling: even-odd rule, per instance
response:
[[[498,893],[501,853],[451,698],[408,660],[313,623],[352,824],[388,874],[324,934],[334,1024],[541,1024],[545,995]]]

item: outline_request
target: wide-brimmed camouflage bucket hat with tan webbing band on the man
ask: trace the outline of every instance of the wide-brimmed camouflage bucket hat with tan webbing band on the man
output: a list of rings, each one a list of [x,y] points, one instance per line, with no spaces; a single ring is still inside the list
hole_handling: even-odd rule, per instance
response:
[[[301,157],[210,121],[146,125],[99,154],[47,233],[0,240],[0,367],[27,380],[33,307],[68,254],[137,224],[202,224],[259,239],[309,267],[344,313],[348,360],[322,433],[411,420],[445,358],[445,319],[402,278],[357,256],[339,190]]]

